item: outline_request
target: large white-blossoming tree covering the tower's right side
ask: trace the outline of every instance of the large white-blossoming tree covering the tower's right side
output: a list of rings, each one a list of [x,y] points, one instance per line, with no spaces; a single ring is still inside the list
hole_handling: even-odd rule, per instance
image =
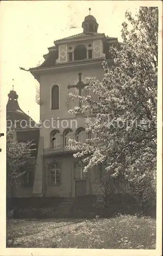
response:
[[[83,103],[69,112],[89,113],[86,143],[69,141],[74,157],[84,157],[85,171],[107,160],[108,172],[124,175],[130,193],[142,204],[156,199],[156,114],[158,8],[141,7],[136,18],[126,12],[130,24],[122,24],[123,43],[111,47],[112,67],[103,62],[102,82],[88,78],[93,95],[70,94]],[[91,93],[90,93],[91,94]],[[89,143],[88,143],[89,142]],[[95,144],[94,144],[95,142]],[[150,191],[150,193],[149,193]]]

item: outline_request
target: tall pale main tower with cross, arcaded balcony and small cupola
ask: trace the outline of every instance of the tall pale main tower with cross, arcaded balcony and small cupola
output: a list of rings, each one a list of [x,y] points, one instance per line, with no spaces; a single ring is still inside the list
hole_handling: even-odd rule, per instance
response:
[[[84,173],[84,166],[66,147],[69,139],[84,142],[90,136],[85,131],[85,114],[69,114],[68,110],[79,102],[71,102],[68,95],[84,95],[85,77],[102,80],[102,61],[113,65],[109,48],[118,46],[118,40],[99,33],[96,18],[90,13],[82,29],[79,34],[55,40],[43,55],[44,62],[30,69],[40,84],[42,127],[33,189],[38,197],[93,195],[94,182],[100,175],[99,166]],[[56,120],[55,124],[51,125],[51,120]]]

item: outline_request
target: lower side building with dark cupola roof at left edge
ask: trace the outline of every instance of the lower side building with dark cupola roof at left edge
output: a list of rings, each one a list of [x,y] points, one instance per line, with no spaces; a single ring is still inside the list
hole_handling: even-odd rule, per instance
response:
[[[7,167],[7,198],[10,197],[32,197],[33,184],[35,177],[35,168],[39,144],[39,127],[35,127],[35,121],[21,110],[18,103],[18,94],[13,89],[8,94],[8,102],[6,105],[7,128],[13,130],[13,138],[18,142],[33,141],[33,148],[31,160],[33,168],[20,176],[17,183],[19,186],[13,186],[10,180],[10,170]]]

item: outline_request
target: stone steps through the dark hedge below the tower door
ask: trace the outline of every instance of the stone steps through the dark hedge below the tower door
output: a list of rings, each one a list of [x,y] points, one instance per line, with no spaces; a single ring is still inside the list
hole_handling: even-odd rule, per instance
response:
[[[71,209],[72,205],[75,203],[75,201],[75,197],[65,197],[55,211],[56,215],[66,215]]]

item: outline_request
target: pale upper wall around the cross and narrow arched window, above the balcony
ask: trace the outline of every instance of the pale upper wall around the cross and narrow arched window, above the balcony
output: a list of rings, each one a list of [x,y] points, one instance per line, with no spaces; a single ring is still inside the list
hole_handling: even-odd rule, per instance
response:
[[[40,81],[40,92],[41,92],[41,101],[43,102],[40,106],[40,120],[57,120],[54,122],[54,126],[63,134],[66,129],[66,125],[68,123],[68,127],[71,126],[73,133],[75,134],[76,129],[78,127],[85,127],[85,119],[82,117],[74,116],[68,113],[68,106],[66,105],[67,97],[70,92],[75,94],[75,90],[68,90],[68,84],[76,84],[78,81],[78,73],[82,72],[82,77],[96,77],[99,80],[103,78],[103,69],[102,65],[98,65],[97,67],[85,67],[84,65],[81,68],[74,70],[67,70],[64,72],[55,71],[52,74],[43,74],[41,75]],[[58,84],[60,86],[60,109],[59,110],[50,110],[50,87],[52,84]],[[78,101],[75,103],[70,102],[71,108],[74,108],[75,105],[78,105]],[[63,120],[67,120],[67,122],[61,123]],[[76,120],[76,121],[70,121]],[[62,125],[63,124],[63,125]],[[50,133],[55,128],[51,127],[51,123],[48,121],[45,123],[46,126],[50,126],[49,128],[43,127],[40,130],[40,136],[44,137],[44,148],[50,147]],[[62,127],[64,126],[64,127]]]

